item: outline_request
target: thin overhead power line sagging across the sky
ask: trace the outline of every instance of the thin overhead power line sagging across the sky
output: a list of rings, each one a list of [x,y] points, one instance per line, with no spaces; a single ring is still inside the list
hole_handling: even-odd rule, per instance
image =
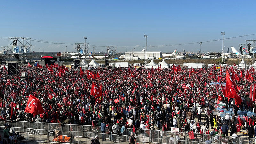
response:
[[[256,34],[250,34],[250,35],[243,35],[243,36],[234,36],[234,37],[228,37],[228,38],[224,38],[224,39],[232,39],[232,38],[238,38],[238,37],[245,37],[245,36],[252,36],[252,35],[256,35]],[[0,37],[2,39],[7,39],[8,37]],[[216,40],[209,40],[209,41],[204,41],[202,43],[208,43],[208,42],[214,42],[214,41],[220,41],[222,39],[216,39]],[[40,43],[48,43],[48,44],[71,44],[74,45],[76,43],[57,43],[57,42],[50,42],[50,41],[44,41],[44,40],[38,40],[38,39],[33,39],[31,38],[31,41],[34,42],[40,42]],[[185,44],[199,44],[200,42],[193,42],[193,43],[184,43],[184,44],[166,44],[166,45],[153,45],[151,47],[163,47],[163,46],[176,46],[176,45],[185,45]],[[106,46],[102,46],[102,45],[93,45],[93,44],[88,44],[90,46],[97,46],[97,47],[106,47]],[[117,46],[119,48],[134,48],[134,47],[145,47],[145,46]]]

